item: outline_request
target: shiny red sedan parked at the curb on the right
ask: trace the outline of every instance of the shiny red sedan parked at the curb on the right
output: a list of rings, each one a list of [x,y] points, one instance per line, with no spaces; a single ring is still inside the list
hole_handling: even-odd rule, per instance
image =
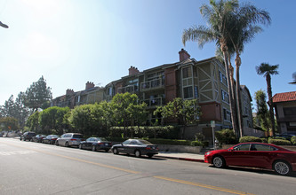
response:
[[[275,144],[242,143],[228,150],[206,152],[204,162],[215,168],[240,166],[274,169],[279,175],[289,175],[296,171],[296,152]]]

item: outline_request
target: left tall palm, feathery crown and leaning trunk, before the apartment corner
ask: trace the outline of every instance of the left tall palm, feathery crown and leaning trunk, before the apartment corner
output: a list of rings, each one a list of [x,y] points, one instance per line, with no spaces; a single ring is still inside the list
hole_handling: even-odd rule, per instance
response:
[[[207,20],[210,27],[204,26],[194,26],[183,31],[182,42],[185,46],[185,43],[188,41],[197,42],[200,48],[203,48],[204,43],[215,42],[220,50],[223,52],[224,64],[227,74],[228,86],[230,85],[230,76],[229,76],[229,61],[228,61],[228,30],[230,28],[228,24],[228,20],[231,17],[234,9],[239,6],[237,0],[228,0],[219,2],[215,2],[213,0],[210,1],[211,7],[203,4],[200,7],[200,12]],[[236,122],[236,110],[234,105],[236,104],[234,99],[234,94],[228,87],[229,94],[229,105],[231,112],[231,121],[233,128],[237,130],[237,122]]]

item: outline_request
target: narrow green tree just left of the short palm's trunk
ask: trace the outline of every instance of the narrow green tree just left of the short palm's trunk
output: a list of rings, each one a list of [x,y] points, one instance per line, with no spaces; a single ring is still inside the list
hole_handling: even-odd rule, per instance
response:
[[[269,129],[271,127],[270,124],[270,117],[268,113],[268,105],[266,101],[266,94],[263,90],[257,90],[255,92],[255,100],[256,100],[256,106],[257,106],[257,114],[255,121],[258,121],[259,124],[256,124],[261,129],[267,130],[269,132]]]

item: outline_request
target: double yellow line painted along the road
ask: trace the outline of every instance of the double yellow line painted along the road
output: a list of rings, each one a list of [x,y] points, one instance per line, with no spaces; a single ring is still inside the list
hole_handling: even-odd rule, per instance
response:
[[[117,167],[114,167],[114,166],[109,166],[109,165],[101,164],[101,163],[98,163],[98,162],[92,162],[92,161],[89,161],[89,160],[81,160],[81,159],[77,159],[77,158],[73,158],[73,157],[69,157],[69,156],[65,156],[65,155],[60,155],[60,154],[52,153],[52,152],[44,152],[44,151],[31,149],[31,148],[24,147],[24,146],[15,145],[15,144],[11,144],[11,145],[21,147],[21,148],[26,148],[26,149],[33,150],[33,151],[36,151],[36,152],[41,152],[41,153],[53,155],[53,156],[58,156],[58,157],[68,159],[68,160],[76,160],[76,161],[84,162],[84,163],[87,163],[87,164],[100,166],[102,168],[111,168],[111,169],[115,169],[115,170],[119,170],[119,171],[124,171],[124,172],[130,173],[130,174],[141,174],[139,171],[134,171],[134,170],[126,169],[126,168],[117,168]],[[211,190],[215,190],[215,191],[224,191],[224,192],[228,192],[228,193],[232,193],[232,194],[238,194],[238,195],[245,195],[245,194],[253,195],[252,193],[247,193],[247,192],[244,192],[244,191],[235,191],[235,190],[231,190],[231,189],[227,189],[227,188],[220,188],[220,187],[213,186],[213,185],[207,185],[207,184],[204,184],[204,183],[193,183],[193,182],[188,182],[188,181],[185,181],[185,180],[173,179],[173,178],[170,178],[170,177],[165,177],[165,176],[160,176],[160,175],[156,175],[156,176],[152,176],[152,177],[156,178],[156,179],[161,179],[161,180],[173,182],[173,183],[183,183],[183,184],[188,184],[188,185],[192,185],[192,186],[196,186],[196,187],[200,187],[200,188],[205,188],[205,189],[211,189]]]

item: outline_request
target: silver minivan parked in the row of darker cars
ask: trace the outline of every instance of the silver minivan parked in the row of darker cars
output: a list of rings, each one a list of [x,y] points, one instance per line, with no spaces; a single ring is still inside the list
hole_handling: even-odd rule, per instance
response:
[[[63,146],[78,146],[81,141],[84,141],[84,136],[80,133],[66,133],[60,136],[56,141],[56,145]]]

